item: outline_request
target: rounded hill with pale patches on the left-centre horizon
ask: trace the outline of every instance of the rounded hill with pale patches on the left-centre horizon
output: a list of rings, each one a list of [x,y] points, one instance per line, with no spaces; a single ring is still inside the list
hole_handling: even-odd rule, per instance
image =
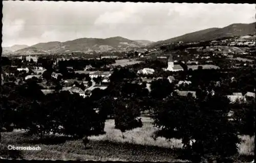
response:
[[[108,50],[126,50],[130,48],[140,47],[141,44],[122,37],[111,37],[106,39],[98,38],[80,38],[66,42],[47,42],[38,43],[30,46],[29,51],[33,52],[35,49],[38,51],[46,51],[50,53],[63,53],[63,52],[89,52],[89,51],[108,51]],[[15,51],[15,53],[26,52],[28,48]]]

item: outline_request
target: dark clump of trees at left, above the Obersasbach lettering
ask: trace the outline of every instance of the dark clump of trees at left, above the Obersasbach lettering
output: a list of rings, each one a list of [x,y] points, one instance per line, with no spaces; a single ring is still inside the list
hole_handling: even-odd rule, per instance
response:
[[[50,132],[75,138],[103,133],[104,116],[94,111],[89,98],[66,91],[44,95],[40,89],[31,81],[16,86],[4,97],[4,127],[13,123],[15,128],[26,129],[40,137]]]

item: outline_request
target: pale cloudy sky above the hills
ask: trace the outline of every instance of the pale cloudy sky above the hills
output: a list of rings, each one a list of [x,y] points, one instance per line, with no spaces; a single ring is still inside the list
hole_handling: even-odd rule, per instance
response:
[[[159,41],[254,22],[255,5],[4,1],[2,21],[2,46],[83,37]]]

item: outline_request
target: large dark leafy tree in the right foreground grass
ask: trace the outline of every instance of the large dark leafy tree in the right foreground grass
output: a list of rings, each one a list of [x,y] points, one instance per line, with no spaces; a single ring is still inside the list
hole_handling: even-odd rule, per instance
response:
[[[237,129],[228,121],[228,111],[229,100],[220,95],[198,100],[174,95],[159,102],[152,117],[160,128],[157,135],[181,138],[190,154],[226,157],[237,153],[239,143]]]

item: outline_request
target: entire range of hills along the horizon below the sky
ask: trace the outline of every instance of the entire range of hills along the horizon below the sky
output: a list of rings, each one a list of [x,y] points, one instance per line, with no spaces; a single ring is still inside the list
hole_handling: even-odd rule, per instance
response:
[[[109,50],[131,50],[142,47],[156,47],[161,44],[183,42],[198,42],[217,40],[226,37],[244,36],[255,33],[256,22],[250,24],[236,23],[224,28],[210,28],[167,40],[152,42],[147,40],[129,40],[120,36],[106,39],[99,38],[79,38],[66,42],[47,42],[37,43],[32,46],[13,45],[3,47],[3,53],[14,54],[34,54],[34,53],[65,53],[65,52],[90,52],[90,51],[109,51]]]

